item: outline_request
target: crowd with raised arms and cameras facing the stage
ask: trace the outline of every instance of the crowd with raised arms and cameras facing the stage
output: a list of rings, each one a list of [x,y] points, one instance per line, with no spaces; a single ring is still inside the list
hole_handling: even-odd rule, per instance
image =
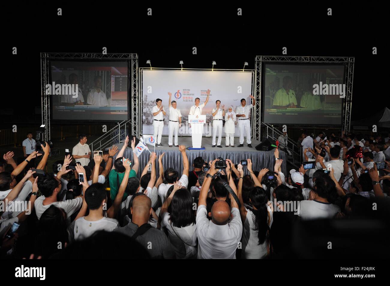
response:
[[[190,166],[183,145],[182,170],[164,170],[165,153],[151,153],[139,170],[136,153],[123,156],[129,143],[134,152],[135,138],[127,137],[120,150],[92,155],[80,136],[80,155],[65,156],[53,172],[48,144],[19,165],[4,154],[1,258],[294,258],[296,223],[369,217],[372,199],[386,200],[390,191],[388,137],[302,134],[303,160],[315,166],[288,176],[278,148],[273,170],[250,159],[197,157]],[[363,158],[348,153],[355,145]]]

